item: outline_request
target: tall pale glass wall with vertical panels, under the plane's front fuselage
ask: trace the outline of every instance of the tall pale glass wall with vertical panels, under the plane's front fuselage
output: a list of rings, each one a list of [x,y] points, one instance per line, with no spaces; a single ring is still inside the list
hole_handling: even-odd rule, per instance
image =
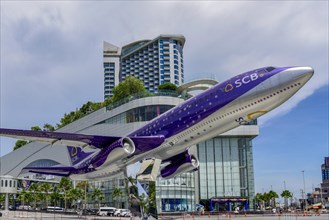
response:
[[[251,138],[216,137],[197,145],[199,198],[247,198],[252,208],[254,173]]]

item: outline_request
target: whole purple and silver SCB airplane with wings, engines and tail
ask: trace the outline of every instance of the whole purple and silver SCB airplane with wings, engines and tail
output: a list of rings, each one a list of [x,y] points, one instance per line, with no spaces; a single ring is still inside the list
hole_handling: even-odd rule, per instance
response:
[[[148,158],[160,159],[160,175],[171,178],[197,170],[189,147],[271,111],[295,94],[313,75],[311,67],[264,67],[235,76],[188,99],[124,137],[0,129],[0,135],[68,147],[72,166],[25,167],[72,179],[106,177]],[[90,146],[83,148],[84,146]]]

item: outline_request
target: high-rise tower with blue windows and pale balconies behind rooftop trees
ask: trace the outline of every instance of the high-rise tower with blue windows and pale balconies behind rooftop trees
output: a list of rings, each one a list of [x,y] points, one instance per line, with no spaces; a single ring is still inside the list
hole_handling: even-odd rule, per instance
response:
[[[152,93],[156,93],[158,86],[164,83],[177,86],[184,83],[184,43],[183,36],[160,35],[154,40],[126,45],[118,53],[104,50],[104,97],[111,97],[114,86],[130,75],[142,80],[145,88]],[[116,58],[117,63],[109,62]]]

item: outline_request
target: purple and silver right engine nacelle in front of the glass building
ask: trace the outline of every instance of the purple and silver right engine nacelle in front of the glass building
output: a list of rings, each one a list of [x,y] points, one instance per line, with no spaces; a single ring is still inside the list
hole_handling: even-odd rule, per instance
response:
[[[195,171],[199,167],[199,160],[188,151],[177,154],[163,162],[170,162],[169,165],[161,169],[162,178],[172,178],[181,173]]]

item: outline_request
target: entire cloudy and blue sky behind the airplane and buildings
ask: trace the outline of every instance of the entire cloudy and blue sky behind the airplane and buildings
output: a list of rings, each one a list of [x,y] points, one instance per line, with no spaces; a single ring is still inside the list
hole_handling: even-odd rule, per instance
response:
[[[294,97],[259,119],[256,191],[298,195],[328,156],[328,1],[1,1],[0,125],[56,124],[103,97],[103,41],[122,46],[182,34],[185,79],[263,66],[312,66]],[[15,140],[2,138],[1,155]]]

